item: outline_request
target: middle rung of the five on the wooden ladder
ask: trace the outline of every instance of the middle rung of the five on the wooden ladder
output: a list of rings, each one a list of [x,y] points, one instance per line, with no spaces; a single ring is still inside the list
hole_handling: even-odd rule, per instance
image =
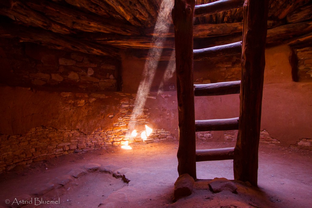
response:
[[[194,96],[239,94],[241,81],[194,85]]]

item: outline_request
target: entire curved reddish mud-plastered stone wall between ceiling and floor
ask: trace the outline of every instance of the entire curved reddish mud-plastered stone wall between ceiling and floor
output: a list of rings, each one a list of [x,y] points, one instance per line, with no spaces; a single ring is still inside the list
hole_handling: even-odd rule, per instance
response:
[[[10,49],[2,43],[0,49],[4,66],[0,171],[58,155],[119,147],[125,141],[141,142],[145,124],[153,128],[145,142],[178,138],[174,62],[157,62],[155,73],[150,74],[145,60],[128,56],[112,61],[27,44],[12,44]],[[308,75],[312,55],[306,50],[288,46],[266,50],[261,142],[311,149],[312,82]],[[298,58],[299,82],[292,80],[293,51]],[[238,57],[195,62],[194,82],[239,80],[239,65]],[[304,75],[301,79],[300,74]],[[78,75],[78,79],[72,79],[72,75]],[[101,82],[113,85],[102,88]],[[147,92],[143,97],[138,92],[140,86]],[[132,117],[136,102],[142,100],[141,113]],[[238,115],[238,95],[195,98],[196,119]],[[129,137],[134,128],[138,136]],[[197,133],[197,139],[207,142],[236,137],[236,131]]]

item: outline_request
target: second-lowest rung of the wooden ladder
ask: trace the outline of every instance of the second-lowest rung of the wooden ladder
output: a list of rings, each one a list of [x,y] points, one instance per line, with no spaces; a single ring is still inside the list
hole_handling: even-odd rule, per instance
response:
[[[238,119],[211,119],[211,120],[195,120],[195,131],[227,131],[238,129]]]

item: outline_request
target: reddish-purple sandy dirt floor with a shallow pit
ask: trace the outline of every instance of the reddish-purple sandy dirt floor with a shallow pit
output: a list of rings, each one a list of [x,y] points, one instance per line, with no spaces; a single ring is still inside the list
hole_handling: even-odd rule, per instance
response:
[[[198,142],[197,149],[234,147]],[[16,167],[0,175],[0,207],[311,207],[312,152],[260,144],[258,188],[212,193],[209,180],[173,201],[178,142],[132,143]],[[114,176],[115,177],[114,177]],[[197,178],[233,179],[232,160],[198,162]]]

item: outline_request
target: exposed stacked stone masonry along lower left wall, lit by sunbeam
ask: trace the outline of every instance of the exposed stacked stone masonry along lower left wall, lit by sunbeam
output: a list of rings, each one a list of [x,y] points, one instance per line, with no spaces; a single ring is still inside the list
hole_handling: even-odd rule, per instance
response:
[[[62,102],[66,103],[66,108],[71,106],[72,109],[82,111],[85,110],[83,107],[87,108],[105,100],[108,103],[113,103],[110,100],[115,100],[117,108],[105,112],[104,118],[101,118],[100,115],[94,117],[97,120],[95,123],[98,122],[101,127],[94,128],[91,132],[82,131],[79,128],[63,129],[52,126],[37,126],[14,135],[0,133],[0,172],[10,170],[18,164],[29,165],[31,162],[60,155],[112,146],[120,147],[125,141],[128,141],[131,146],[133,142],[143,141],[141,133],[145,129],[137,127],[143,127],[145,124],[150,125],[149,109],[144,109],[142,114],[131,119],[136,94],[118,92],[112,94],[61,92],[57,94],[63,100]],[[71,111],[69,110],[68,113]],[[104,119],[106,122],[100,122],[99,119]],[[137,129],[136,137],[129,136],[131,127]],[[144,142],[163,142],[173,139],[176,139],[175,134],[164,128],[153,128],[153,132]]]

